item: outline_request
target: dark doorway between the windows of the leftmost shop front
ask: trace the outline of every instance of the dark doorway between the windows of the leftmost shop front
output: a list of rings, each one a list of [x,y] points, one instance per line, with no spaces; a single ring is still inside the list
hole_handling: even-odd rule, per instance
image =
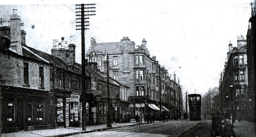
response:
[[[17,99],[17,126],[18,131],[24,131],[25,125],[24,125],[24,100],[23,99]]]

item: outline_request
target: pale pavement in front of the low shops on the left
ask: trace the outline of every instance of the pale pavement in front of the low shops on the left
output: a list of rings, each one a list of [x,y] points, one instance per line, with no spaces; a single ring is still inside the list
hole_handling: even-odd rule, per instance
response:
[[[125,127],[125,126],[141,125],[141,124],[146,124],[146,123],[142,122],[137,124],[135,121],[131,121],[128,123],[112,123],[111,124],[112,128],[107,127],[107,124],[92,125],[92,126],[86,126],[86,131],[83,131],[81,126],[57,128],[57,129],[46,129],[46,130],[21,131],[21,132],[1,134],[1,137],[60,137],[60,136],[68,136],[68,135],[109,130],[109,129]]]

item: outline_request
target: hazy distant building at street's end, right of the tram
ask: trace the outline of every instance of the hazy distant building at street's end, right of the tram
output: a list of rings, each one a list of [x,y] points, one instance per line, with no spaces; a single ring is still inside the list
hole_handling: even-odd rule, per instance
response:
[[[214,87],[213,89],[209,89],[205,96],[202,97],[202,106],[201,112],[202,114],[210,115],[211,113],[216,113],[214,96],[219,93],[218,87]]]

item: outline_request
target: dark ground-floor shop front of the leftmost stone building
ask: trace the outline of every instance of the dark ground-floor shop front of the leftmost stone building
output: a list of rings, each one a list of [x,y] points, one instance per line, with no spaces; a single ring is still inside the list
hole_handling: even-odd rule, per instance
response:
[[[8,86],[1,97],[1,133],[50,129],[47,91]]]

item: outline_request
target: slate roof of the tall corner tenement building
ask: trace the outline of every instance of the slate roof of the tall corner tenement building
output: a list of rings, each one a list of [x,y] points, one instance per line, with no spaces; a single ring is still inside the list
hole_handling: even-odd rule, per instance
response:
[[[96,43],[95,46],[90,46],[86,54],[93,51],[98,52],[97,54],[120,54],[126,51],[127,47],[129,52],[134,52],[134,45],[128,42]]]

